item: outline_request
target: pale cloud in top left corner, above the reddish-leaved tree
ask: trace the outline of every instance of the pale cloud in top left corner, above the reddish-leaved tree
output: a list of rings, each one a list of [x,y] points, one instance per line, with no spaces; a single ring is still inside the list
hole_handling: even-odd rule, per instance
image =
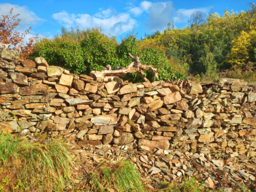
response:
[[[39,18],[33,11],[30,11],[26,6],[12,5],[9,3],[0,4],[0,14],[8,14],[10,9],[13,8],[14,14],[19,14],[18,18],[21,19],[16,30],[19,32],[24,32],[26,29],[32,25],[38,24],[38,22],[44,19]]]

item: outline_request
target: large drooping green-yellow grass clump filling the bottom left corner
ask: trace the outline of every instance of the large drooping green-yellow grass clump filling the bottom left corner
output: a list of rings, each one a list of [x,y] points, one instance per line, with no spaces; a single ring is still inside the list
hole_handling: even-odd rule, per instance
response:
[[[71,184],[71,155],[57,141],[30,142],[0,134],[0,158],[2,164],[9,160],[4,168],[16,170],[13,191],[63,191]]]

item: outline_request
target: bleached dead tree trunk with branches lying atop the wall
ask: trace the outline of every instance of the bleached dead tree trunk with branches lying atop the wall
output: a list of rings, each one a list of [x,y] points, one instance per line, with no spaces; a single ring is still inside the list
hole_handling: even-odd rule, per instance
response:
[[[98,82],[108,82],[112,80],[118,80],[122,81],[119,77],[124,77],[127,73],[136,73],[138,72],[140,77],[144,81],[149,81],[145,75],[142,73],[142,71],[151,70],[154,73],[154,77],[158,78],[157,69],[153,68],[152,66],[147,65],[141,65],[139,57],[132,56],[129,53],[129,56],[134,60],[132,63],[130,63],[129,66],[118,69],[118,70],[112,70],[111,66],[106,66],[108,69],[103,71],[91,71],[90,75],[94,78],[94,80],[97,80]]]

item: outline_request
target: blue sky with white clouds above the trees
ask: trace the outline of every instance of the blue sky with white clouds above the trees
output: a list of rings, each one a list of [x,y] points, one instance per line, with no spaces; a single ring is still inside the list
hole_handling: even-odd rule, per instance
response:
[[[168,21],[175,27],[183,28],[195,11],[209,13],[217,12],[223,15],[228,11],[246,11],[252,1],[247,0],[179,0],[179,1],[79,1],[79,0],[8,0],[0,1],[0,14],[14,8],[14,13],[20,13],[22,22],[18,31],[23,32],[32,27],[31,35],[54,37],[64,26],[74,29],[101,27],[102,32],[109,36],[117,36],[120,40],[127,34],[135,32],[138,38],[156,30],[163,30]]]

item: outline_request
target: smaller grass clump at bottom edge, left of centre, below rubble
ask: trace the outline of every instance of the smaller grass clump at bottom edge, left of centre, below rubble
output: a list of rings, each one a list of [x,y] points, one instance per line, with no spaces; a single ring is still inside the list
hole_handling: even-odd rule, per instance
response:
[[[94,192],[146,191],[135,165],[129,160],[114,164],[100,163],[84,178],[83,189]]]

